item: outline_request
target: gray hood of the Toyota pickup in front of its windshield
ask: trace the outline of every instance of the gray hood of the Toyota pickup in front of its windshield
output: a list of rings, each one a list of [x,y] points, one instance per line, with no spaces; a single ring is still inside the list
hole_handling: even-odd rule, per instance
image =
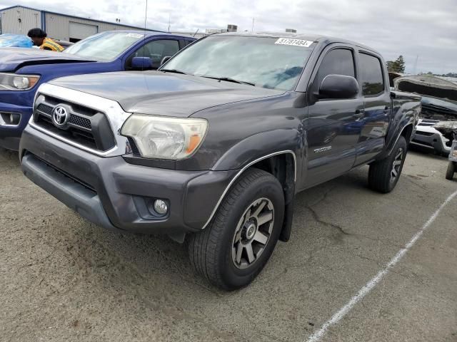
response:
[[[129,113],[179,117],[216,105],[285,93],[284,90],[160,71],[69,76],[51,81],[51,84],[114,100]]]

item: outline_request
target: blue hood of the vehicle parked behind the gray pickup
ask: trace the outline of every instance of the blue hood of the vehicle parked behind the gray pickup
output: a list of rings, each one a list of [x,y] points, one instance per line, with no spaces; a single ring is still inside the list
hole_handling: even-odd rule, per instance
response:
[[[0,71],[16,71],[23,66],[53,63],[90,62],[70,53],[44,51],[38,48],[0,48]]]

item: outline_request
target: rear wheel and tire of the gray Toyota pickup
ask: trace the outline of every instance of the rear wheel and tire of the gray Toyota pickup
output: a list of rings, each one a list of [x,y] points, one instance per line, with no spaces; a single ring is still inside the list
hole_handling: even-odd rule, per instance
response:
[[[408,145],[405,138],[401,136],[393,147],[391,155],[370,165],[368,186],[383,194],[391,192],[400,178],[407,151]]]

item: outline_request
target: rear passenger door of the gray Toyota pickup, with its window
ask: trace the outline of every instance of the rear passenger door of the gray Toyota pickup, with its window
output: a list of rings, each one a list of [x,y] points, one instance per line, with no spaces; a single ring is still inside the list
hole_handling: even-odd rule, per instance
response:
[[[383,150],[392,108],[381,58],[371,51],[358,51],[358,73],[365,109],[356,146],[356,165],[361,165]]]

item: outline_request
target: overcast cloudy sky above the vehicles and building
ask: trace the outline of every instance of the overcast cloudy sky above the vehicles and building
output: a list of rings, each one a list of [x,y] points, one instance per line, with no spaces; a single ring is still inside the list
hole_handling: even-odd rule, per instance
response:
[[[144,26],[146,0],[0,0],[121,24]],[[149,0],[146,26],[204,32],[317,33],[371,46],[388,60],[403,55],[406,72],[457,73],[457,0]],[[254,19],[254,20],[253,20]],[[417,63],[416,63],[417,60]],[[416,68],[415,68],[416,66]]]

